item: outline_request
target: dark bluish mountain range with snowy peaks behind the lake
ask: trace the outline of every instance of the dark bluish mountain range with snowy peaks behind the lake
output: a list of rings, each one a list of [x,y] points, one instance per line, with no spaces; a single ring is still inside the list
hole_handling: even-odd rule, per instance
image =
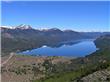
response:
[[[24,24],[16,27],[1,26],[2,53],[38,48],[42,45],[52,46],[63,41],[93,39],[108,33],[76,32],[58,28],[34,29]]]

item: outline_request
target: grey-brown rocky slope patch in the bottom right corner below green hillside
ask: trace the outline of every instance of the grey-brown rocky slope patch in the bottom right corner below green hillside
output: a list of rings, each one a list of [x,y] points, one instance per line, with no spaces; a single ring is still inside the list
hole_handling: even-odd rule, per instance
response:
[[[82,82],[110,82],[110,67],[96,71],[81,79]]]

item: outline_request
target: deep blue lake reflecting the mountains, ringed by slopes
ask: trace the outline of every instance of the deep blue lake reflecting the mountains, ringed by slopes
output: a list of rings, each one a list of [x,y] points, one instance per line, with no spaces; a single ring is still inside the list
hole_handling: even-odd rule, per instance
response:
[[[80,40],[67,43],[60,43],[54,46],[42,46],[40,48],[20,52],[25,55],[40,56],[66,56],[66,57],[84,57],[97,50],[94,40]]]

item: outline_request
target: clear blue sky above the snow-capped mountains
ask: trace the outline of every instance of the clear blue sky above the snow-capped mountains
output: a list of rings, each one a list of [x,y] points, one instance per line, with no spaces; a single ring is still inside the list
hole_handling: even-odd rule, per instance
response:
[[[107,1],[2,1],[1,25],[110,31]]]

